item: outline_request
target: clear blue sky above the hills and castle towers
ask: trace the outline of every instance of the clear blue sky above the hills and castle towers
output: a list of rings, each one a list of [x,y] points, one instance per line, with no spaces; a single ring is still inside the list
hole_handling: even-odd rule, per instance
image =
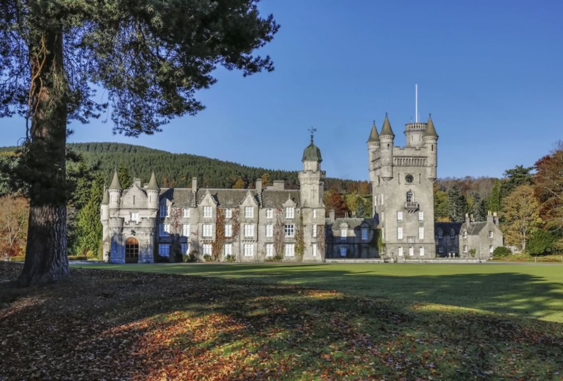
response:
[[[502,176],[533,165],[563,139],[563,2],[264,0],[282,25],[261,54],[273,73],[218,69],[199,92],[207,106],[154,136],[73,123],[72,142],[115,141],[265,168],[300,169],[307,129],[330,177],[368,178],[372,120],[404,124],[428,113],[440,135],[439,177]],[[101,95],[101,93],[100,93]],[[24,122],[2,119],[0,145]]]

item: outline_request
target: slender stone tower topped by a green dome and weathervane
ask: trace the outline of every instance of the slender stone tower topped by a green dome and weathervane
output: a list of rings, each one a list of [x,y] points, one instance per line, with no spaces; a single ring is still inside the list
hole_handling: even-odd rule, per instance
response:
[[[314,132],[313,129],[311,132]],[[303,243],[305,250],[303,261],[319,262],[324,260],[325,208],[323,203],[326,172],[321,171],[323,158],[319,147],[313,142],[303,151],[303,171],[299,172],[301,213],[303,218]]]

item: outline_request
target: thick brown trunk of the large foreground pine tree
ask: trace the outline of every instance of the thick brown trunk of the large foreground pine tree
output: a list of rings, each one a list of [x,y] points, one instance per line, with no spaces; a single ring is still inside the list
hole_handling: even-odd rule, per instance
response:
[[[65,174],[69,91],[62,65],[62,31],[43,32],[33,42],[29,50],[31,131],[20,170],[30,192],[25,265],[18,280],[23,286],[69,274]]]

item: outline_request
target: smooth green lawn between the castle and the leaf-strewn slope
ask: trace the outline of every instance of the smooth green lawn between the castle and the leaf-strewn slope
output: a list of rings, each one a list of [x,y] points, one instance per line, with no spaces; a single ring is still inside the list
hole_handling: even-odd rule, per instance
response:
[[[426,309],[472,308],[486,313],[563,322],[560,265],[392,264],[155,264],[79,265],[86,268],[202,275],[386,298]]]

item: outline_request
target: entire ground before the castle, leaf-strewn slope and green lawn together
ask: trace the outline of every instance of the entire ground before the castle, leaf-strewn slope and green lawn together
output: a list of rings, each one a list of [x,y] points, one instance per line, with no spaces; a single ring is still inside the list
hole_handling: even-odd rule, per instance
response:
[[[560,297],[562,267],[503,266],[134,265],[20,289],[0,262],[0,379],[560,380],[563,324],[436,300],[498,277]]]

